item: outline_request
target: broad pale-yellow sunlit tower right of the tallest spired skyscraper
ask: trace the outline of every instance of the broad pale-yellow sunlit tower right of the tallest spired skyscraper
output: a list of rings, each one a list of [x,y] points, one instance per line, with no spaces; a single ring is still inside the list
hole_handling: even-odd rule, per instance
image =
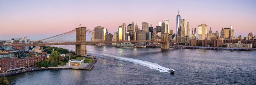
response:
[[[199,40],[207,39],[207,25],[206,24],[198,25],[198,39]]]

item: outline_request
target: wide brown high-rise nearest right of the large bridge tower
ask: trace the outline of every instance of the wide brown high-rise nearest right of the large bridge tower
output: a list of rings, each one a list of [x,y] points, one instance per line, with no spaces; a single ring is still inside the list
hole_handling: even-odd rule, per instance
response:
[[[104,27],[101,27],[101,26],[94,27],[94,41],[102,41],[102,40],[104,40],[104,38],[102,38],[103,29],[104,29]]]

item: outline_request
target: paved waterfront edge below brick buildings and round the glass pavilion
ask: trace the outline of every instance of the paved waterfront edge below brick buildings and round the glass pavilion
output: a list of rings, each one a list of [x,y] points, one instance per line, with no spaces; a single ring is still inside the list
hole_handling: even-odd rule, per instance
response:
[[[26,72],[32,72],[32,71],[39,71],[39,70],[53,70],[53,69],[76,69],[76,70],[91,70],[94,67],[94,64],[97,62],[97,59],[94,59],[93,62],[86,64],[84,67],[74,67],[74,66],[59,66],[58,67],[48,67],[48,68],[35,68],[35,67],[29,67],[27,69],[23,70],[18,70],[14,72],[8,72],[8,73],[0,73],[0,77],[6,77],[14,74],[19,74],[19,73],[26,73]]]

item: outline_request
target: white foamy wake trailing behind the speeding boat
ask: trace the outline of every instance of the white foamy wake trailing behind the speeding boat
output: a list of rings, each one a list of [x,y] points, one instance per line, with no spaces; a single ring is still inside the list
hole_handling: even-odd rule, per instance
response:
[[[94,52],[87,52],[87,53],[97,54],[97,53],[94,53]],[[146,67],[149,67],[151,69],[155,69],[159,72],[170,73],[170,71],[175,71],[174,69],[162,67],[162,66],[160,66],[156,63],[152,63],[152,62],[148,62],[148,61],[137,60],[137,59],[128,58],[128,57],[113,56],[113,55],[109,55],[109,54],[103,54],[103,55],[113,57],[113,58],[116,58],[116,59],[119,59],[119,60],[123,60],[123,61],[126,61],[126,62],[131,62],[131,63],[134,63],[134,64],[139,64],[139,65],[142,65],[142,66],[146,66]]]

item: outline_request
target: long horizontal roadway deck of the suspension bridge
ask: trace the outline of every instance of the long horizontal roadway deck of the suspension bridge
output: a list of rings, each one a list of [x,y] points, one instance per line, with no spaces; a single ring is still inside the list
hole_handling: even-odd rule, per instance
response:
[[[85,45],[90,45],[90,44],[104,44],[104,43],[142,43],[142,42],[152,42],[152,43],[167,43],[167,41],[138,41],[138,40],[131,40],[131,41],[87,41]],[[178,42],[168,42],[168,43],[178,43]],[[183,44],[183,43],[180,43]],[[0,46],[54,46],[54,45],[81,45],[81,43],[77,42],[64,42],[64,43],[39,43],[39,44],[11,44],[11,45],[0,45]],[[84,45],[84,44],[83,44]]]

